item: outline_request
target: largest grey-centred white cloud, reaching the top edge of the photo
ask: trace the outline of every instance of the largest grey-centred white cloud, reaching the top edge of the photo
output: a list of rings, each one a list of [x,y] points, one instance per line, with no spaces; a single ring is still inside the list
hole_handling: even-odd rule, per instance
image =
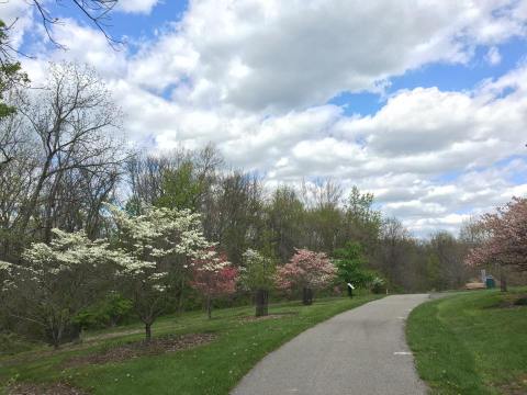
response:
[[[135,59],[134,77],[157,90],[186,80],[175,94],[192,105],[289,111],[377,91],[433,61],[466,63],[474,45],[525,33],[519,3],[191,1],[175,30]]]

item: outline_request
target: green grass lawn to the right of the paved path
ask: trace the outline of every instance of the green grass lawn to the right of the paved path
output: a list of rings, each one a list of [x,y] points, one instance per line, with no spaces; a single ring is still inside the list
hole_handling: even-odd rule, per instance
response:
[[[433,394],[527,394],[527,289],[474,291],[418,306],[406,338]]]

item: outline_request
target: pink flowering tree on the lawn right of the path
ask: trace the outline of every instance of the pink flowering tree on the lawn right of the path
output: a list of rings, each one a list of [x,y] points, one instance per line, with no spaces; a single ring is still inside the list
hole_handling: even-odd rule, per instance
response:
[[[472,267],[496,263],[500,269],[512,267],[526,271],[527,199],[514,198],[495,213],[483,215],[480,224],[485,237],[471,249],[467,263]],[[502,291],[506,291],[504,271],[500,271]]]

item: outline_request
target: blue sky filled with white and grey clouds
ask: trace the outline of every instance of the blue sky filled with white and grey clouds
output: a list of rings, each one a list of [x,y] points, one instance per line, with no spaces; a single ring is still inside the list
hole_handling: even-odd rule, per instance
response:
[[[121,0],[120,50],[47,4],[67,50],[29,1],[0,3],[24,69],[94,67],[144,149],[357,185],[416,236],[527,195],[527,0]]]

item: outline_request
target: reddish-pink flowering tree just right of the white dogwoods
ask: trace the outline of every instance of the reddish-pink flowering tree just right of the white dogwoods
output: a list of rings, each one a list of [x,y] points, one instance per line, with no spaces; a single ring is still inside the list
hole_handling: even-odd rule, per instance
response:
[[[192,260],[191,286],[205,300],[206,315],[212,318],[212,301],[236,292],[238,270],[224,253],[210,248],[201,258]]]

